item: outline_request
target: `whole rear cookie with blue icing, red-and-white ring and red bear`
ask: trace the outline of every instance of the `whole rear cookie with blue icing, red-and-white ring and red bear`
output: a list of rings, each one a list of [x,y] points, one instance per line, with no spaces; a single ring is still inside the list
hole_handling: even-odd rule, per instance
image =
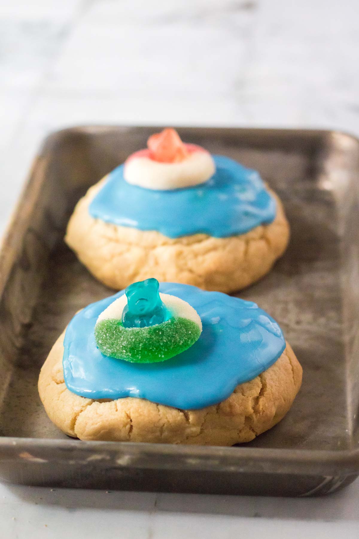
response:
[[[160,136],[81,198],[67,245],[115,289],[155,277],[230,293],[261,279],[288,243],[279,198],[256,171]]]

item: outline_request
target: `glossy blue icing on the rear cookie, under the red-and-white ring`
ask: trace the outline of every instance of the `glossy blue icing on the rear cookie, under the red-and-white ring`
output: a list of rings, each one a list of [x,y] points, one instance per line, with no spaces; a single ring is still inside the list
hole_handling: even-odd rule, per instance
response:
[[[272,223],[276,201],[258,172],[223,155],[213,158],[216,172],[206,183],[172,191],[131,185],[120,165],[110,172],[89,213],[107,223],[157,230],[170,238],[196,233],[224,238]]]

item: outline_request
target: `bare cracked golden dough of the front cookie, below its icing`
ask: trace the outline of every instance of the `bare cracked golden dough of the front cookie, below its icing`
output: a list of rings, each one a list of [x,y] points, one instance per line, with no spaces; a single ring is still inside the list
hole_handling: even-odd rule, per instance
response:
[[[41,369],[39,395],[53,423],[81,440],[220,446],[244,443],[285,416],[301,385],[302,369],[287,343],[269,369],[238,385],[228,399],[201,410],[179,410],[134,397],[88,399],[66,388],[64,335],[65,331]]]

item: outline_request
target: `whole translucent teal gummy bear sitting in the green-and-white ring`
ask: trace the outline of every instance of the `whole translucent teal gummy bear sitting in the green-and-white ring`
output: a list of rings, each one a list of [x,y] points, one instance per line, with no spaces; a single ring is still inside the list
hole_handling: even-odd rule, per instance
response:
[[[125,328],[146,328],[165,322],[170,314],[158,292],[157,279],[133,282],[125,289],[127,305],[122,312]]]

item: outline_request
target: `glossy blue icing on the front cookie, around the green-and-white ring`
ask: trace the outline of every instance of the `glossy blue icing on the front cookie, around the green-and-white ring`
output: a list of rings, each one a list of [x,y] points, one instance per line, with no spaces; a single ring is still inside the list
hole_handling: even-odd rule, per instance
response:
[[[191,348],[161,363],[129,363],[96,347],[97,316],[123,294],[92,303],[69,323],[64,341],[67,388],[93,399],[140,397],[199,409],[229,397],[236,385],[268,369],[285,349],[278,324],[256,303],[189,285],[161,283],[160,292],[192,305],[203,331]]]

